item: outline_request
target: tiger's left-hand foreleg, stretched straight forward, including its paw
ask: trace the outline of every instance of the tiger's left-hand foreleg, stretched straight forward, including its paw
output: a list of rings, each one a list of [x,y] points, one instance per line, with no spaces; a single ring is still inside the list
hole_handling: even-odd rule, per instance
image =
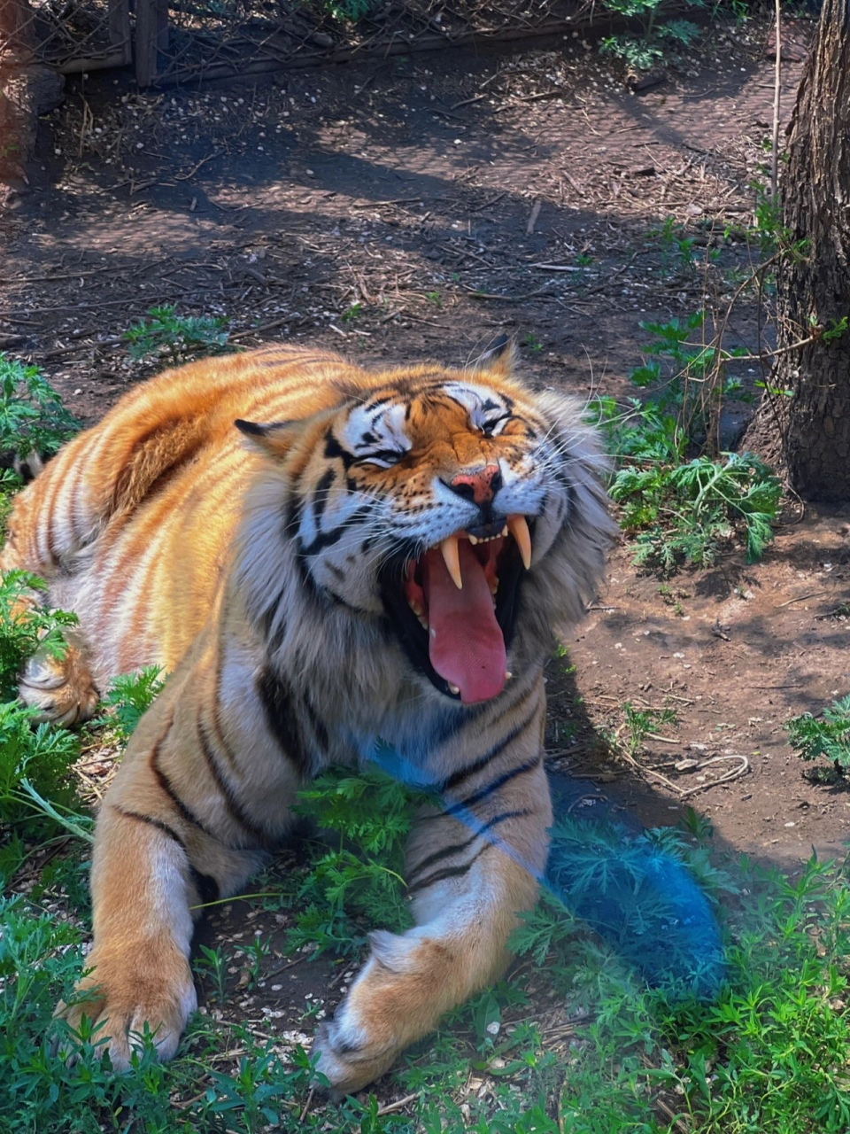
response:
[[[133,735],[97,816],[92,863],[94,945],[70,1005],[57,1013],[78,1030],[84,1015],[112,1065],[130,1065],[145,1025],[170,1058],[195,1007],[193,922],[203,903],[238,892],[287,822],[288,781],[253,787],[262,738],[219,716],[214,659],[178,669]],[[250,687],[235,687],[248,727]],[[258,726],[262,727],[262,726]],[[278,763],[283,761],[278,756]],[[270,826],[248,827],[254,795]],[[279,824],[271,826],[272,818]]]

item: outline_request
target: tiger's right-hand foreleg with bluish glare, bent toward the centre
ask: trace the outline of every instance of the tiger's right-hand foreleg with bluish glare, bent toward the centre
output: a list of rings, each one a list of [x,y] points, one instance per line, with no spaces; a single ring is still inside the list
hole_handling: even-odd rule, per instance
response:
[[[470,777],[457,797],[462,806],[423,816],[414,830],[408,878],[416,926],[372,934],[369,959],[316,1035],[317,1069],[335,1091],[356,1091],[383,1074],[443,1013],[508,966],[517,914],[536,902],[551,823],[538,726],[530,731],[537,751],[516,745],[499,761],[510,768]]]

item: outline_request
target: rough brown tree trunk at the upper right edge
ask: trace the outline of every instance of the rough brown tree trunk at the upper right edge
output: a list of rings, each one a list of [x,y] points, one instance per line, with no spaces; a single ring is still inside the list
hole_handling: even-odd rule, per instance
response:
[[[824,0],[788,151],[783,222],[805,245],[777,269],[777,345],[816,339],[777,356],[772,384],[793,396],[784,412],[766,396],[757,426],[780,433],[801,497],[850,500],[850,331],[828,337],[850,320],[850,0]]]

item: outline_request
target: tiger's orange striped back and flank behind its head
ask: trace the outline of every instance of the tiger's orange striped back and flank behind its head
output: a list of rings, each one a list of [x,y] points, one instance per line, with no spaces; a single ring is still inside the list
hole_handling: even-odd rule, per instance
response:
[[[164,372],[20,493],[0,567],[12,557],[42,565],[51,606],[83,620],[100,683],[152,663],[170,672],[220,601],[262,463],[233,421],[309,417],[351,381],[368,375],[284,345]]]

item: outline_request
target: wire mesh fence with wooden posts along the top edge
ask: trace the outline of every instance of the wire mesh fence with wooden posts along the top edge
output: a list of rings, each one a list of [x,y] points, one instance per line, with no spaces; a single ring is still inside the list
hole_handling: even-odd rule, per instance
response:
[[[594,0],[0,0],[0,65],[135,62],[141,86],[391,56],[583,23]]]

